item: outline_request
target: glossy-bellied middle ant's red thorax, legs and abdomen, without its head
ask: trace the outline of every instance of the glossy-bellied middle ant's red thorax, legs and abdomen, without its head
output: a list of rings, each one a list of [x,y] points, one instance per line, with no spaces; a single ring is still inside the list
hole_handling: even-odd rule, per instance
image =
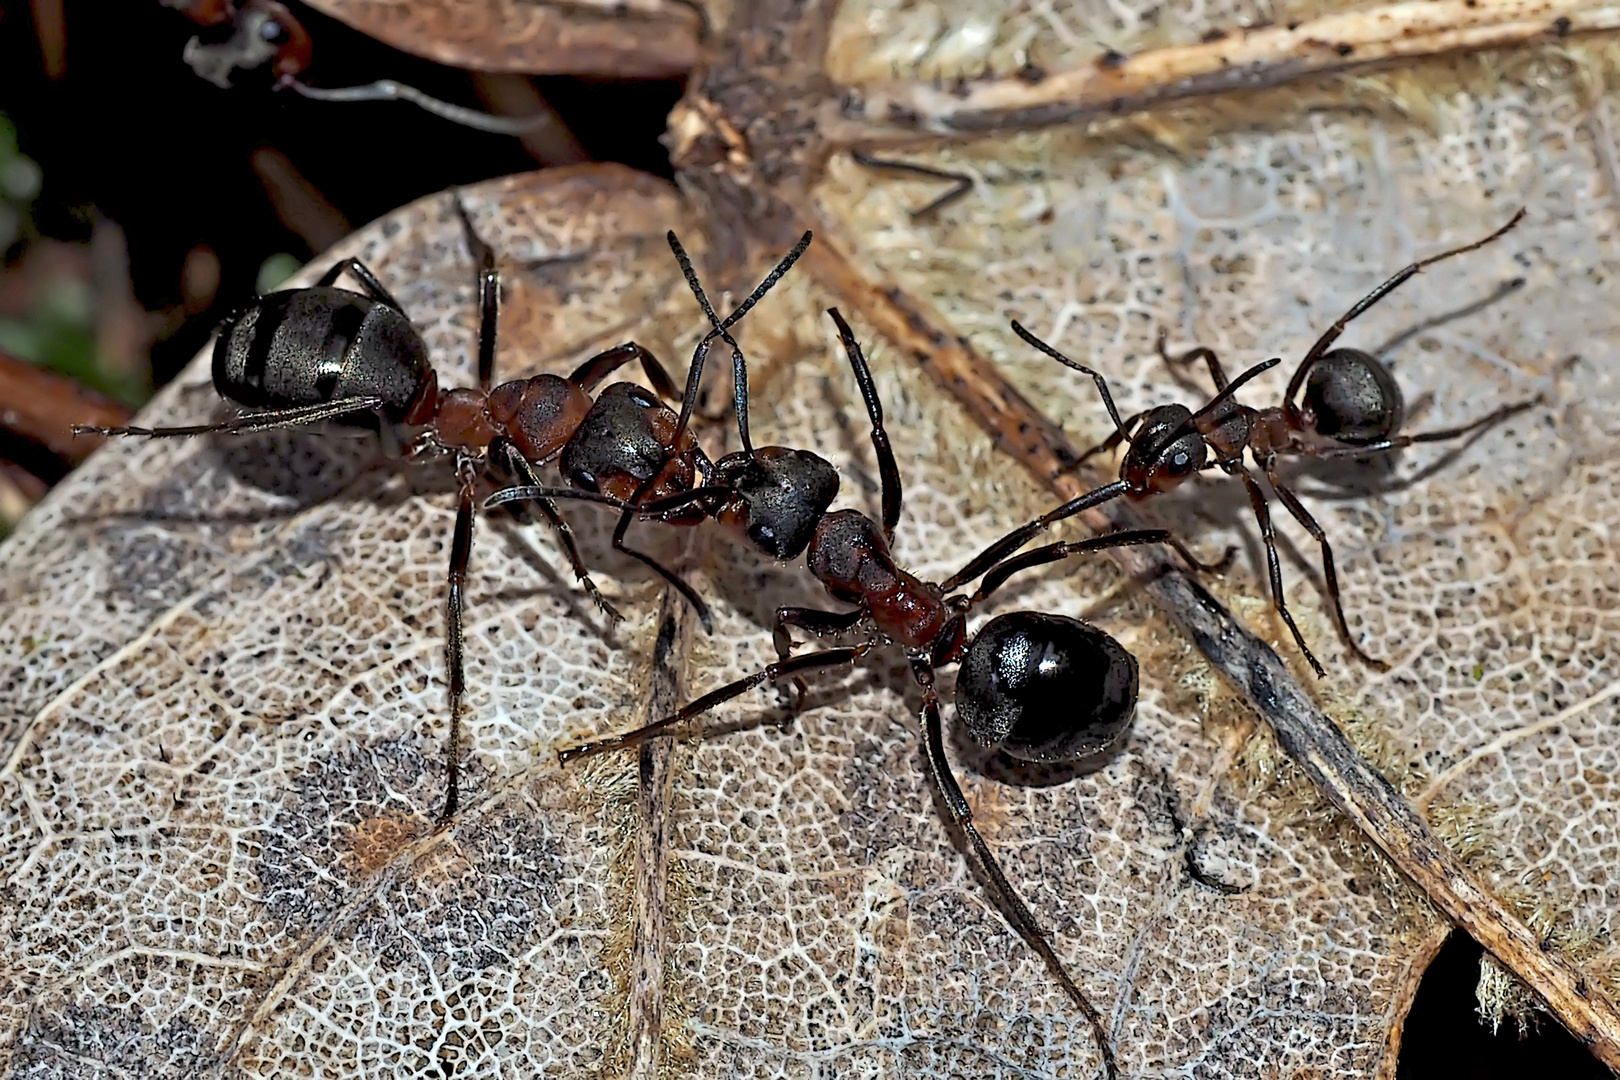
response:
[[[855,607],[846,612],[778,609],[773,631],[778,662],[711,690],[674,716],[624,735],[562,750],[557,759],[565,766],[590,755],[635,746],[654,735],[680,730],[761,683],[776,685],[786,678],[797,682],[805,672],[854,665],[881,644],[901,646],[922,690],[928,766],[949,821],[970,844],[1014,929],[1030,942],[1090,1022],[1106,1075],[1115,1077],[1113,1049],[1102,1017],[1064,970],[1035,916],[974,826],[972,806],[944,755],[935,674],[941,667],[959,664],[956,712],[969,735],[985,746],[1030,763],[1071,763],[1110,753],[1129,727],[1137,698],[1137,662],[1123,644],[1077,619],[1027,610],[996,615],[978,633],[969,635],[967,615],[1014,573],[1108,547],[1165,542],[1170,533],[1131,529],[1050,544],[974,573],[964,568],[938,585],[902,570],[889,554],[901,517],[901,478],[883,429],[883,406],[849,324],[836,308],[828,314],[838,325],[872,419],[872,442],[883,478],[883,523],[880,526],[859,510],[826,513],[815,526],[805,562],[834,599]],[[972,596],[956,593],[980,575],[983,581]],[[792,627],[816,636],[865,628],[868,638],[849,648],[791,656],[795,644],[789,635]]]

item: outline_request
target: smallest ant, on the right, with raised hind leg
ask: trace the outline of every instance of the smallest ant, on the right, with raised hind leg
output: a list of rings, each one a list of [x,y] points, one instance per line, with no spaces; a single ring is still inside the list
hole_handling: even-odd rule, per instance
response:
[[[1298,495],[1294,495],[1294,492],[1290,491],[1290,487],[1278,476],[1277,461],[1281,455],[1328,460],[1366,458],[1377,453],[1400,450],[1401,447],[1409,447],[1419,442],[1460,439],[1539,405],[1542,398],[1537,395],[1528,402],[1503,405],[1490,415],[1468,424],[1401,436],[1396,432],[1400,432],[1400,427],[1406,419],[1406,406],[1400,385],[1395,382],[1395,376],[1390,374],[1390,369],[1372,355],[1356,348],[1335,348],[1328,351],[1328,347],[1338,340],[1340,334],[1343,334],[1345,327],[1353,319],[1388,296],[1409,277],[1427,266],[1440,262],[1442,259],[1450,259],[1452,256],[1464,254],[1489,244],[1492,240],[1497,240],[1518,225],[1523,219],[1524,210],[1521,209],[1507,225],[1495,230],[1489,236],[1463,244],[1461,248],[1442,251],[1440,254],[1429,256],[1427,259],[1419,259],[1358,300],[1349,311],[1340,316],[1340,319],[1317,338],[1315,345],[1311,347],[1311,351],[1307,351],[1304,359],[1299,361],[1293,377],[1288,381],[1288,390],[1283,393],[1281,405],[1264,410],[1254,410],[1241,405],[1233,398],[1233,393],[1260,372],[1280,364],[1281,359],[1267,359],[1254,368],[1249,368],[1236,379],[1228,381],[1226,372],[1213,350],[1199,347],[1184,356],[1171,359],[1163,353],[1163,337],[1160,337],[1160,355],[1165,356],[1166,363],[1191,364],[1202,359],[1209,364],[1210,379],[1215,382],[1215,397],[1212,397],[1197,411],[1189,410],[1186,405],[1160,405],[1144,410],[1128,419],[1121,419],[1119,410],[1115,408],[1113,395],[1108,392],[1108,382],[1103,376],[1097,374],[1085,364],[1069,359],[1014,321],[1013,330],[1021,338],[1058,363],[1066,364],[1081,374],[1090,376],[1097,384],[1097,390],[1102,393],[1110,419],[1113,419],[1113,434],[1082,453],[1068,468],[1077,468],[1092,455],[1113,450],[1121,442],[1126,444],[1128,450],[1119,463],[1119,479],[1071,499],[1045,517],[1008,533],[1000,541],[987,547],[970,563],[970,567],[980,570],[988,568],[1027,544],[1055,521],[1061,521],[1068,517],[1081,513],[1082,510],[1097,507],[1110,499],[1116,499],[1118,495],[1126,495],[1129,499],[1149,499],[1179,486],[1184,479],[1202,470],[1220,466],[1226,474],[1239,478],[1249,492],[1249,504],[1254,510],[1254,518],[1260,526],[1260,536],[1265,541],[1265,560],[1272,586],[1272,601],[1277,606],[1277,612],[1283,617],[1290,633],[1293,633],[1294,643],[1299,646],[1299,651],[1304,654],[1312,670],[1315,670],[1319,677],[1325,675],[1325,669],[1306,644],[1304,635],[1299,633],[1299,627],[1294,623],[1294,617],[1290,614],[1288,604],[1283,597],[1283,576],[1281,565],[1277,557],[1277,539],[1272,528],[1272,517],[1267,508],[1265,491],[1243,463],[1243,453],[1247,450],[1256,465],[1265,473],[1277,499],[1281,500],[1283,507],[1286,507],[1293,518],[1299,521],[1307,533],[1311,533],[1320,547],[1322,578],[1327,586],[1328,607],[1333,614],[1333,622],[1338,627],[1340,638],[1358,661],[1379,672],[1388,670],[1388,664],[1385,661],[1369,656],[1361,644],[1351,638],[1349,627],[1345,622],[1345,610],[1340,604],[1338,573],[1333,567],[1333,549],[1328,546],[1327,534],[1322,531],[1322,526],[1317,525],[1315,518],[1311,517],[1304,504],[1299,502]]]

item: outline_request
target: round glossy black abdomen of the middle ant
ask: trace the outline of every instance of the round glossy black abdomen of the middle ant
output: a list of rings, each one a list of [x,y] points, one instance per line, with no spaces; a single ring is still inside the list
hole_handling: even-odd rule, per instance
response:
[[[1079,761],[1119,742],[1136,711],[1136,657],[1066,615],[1011,612],[978,631],[956,677],[969,735],[1021,761]]]

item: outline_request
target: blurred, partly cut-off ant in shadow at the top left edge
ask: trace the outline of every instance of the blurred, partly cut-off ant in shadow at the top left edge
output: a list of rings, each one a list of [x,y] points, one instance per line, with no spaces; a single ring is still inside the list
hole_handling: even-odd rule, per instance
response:
[[[198,26],[209,28],[207,42],[202,36],[193,36],[180,55],[198,76],[220,89],[235,86],[238,73],[264,68],[274,89],[292,89],[313,100],[407,100],[442,120],[491,134],[523,134],[552,123],[549,113],[492,117],[429,97],[394,79],[377,79],[363,86],[309,86],[300,76],[314,63],[314,42],[298,16],[275,0],[164,0],[164,5],[178,8]]]

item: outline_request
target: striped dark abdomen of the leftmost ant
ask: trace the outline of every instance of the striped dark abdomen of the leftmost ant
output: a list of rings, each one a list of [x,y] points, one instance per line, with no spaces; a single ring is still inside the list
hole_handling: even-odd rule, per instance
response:
[[[219,327],[214,385],[249,408],[295,408],[377,397],[407,419],[433,377],[428,343],[400,311],[347,288],[259,296]],[[374,424],[371,413],[339,418]]]

